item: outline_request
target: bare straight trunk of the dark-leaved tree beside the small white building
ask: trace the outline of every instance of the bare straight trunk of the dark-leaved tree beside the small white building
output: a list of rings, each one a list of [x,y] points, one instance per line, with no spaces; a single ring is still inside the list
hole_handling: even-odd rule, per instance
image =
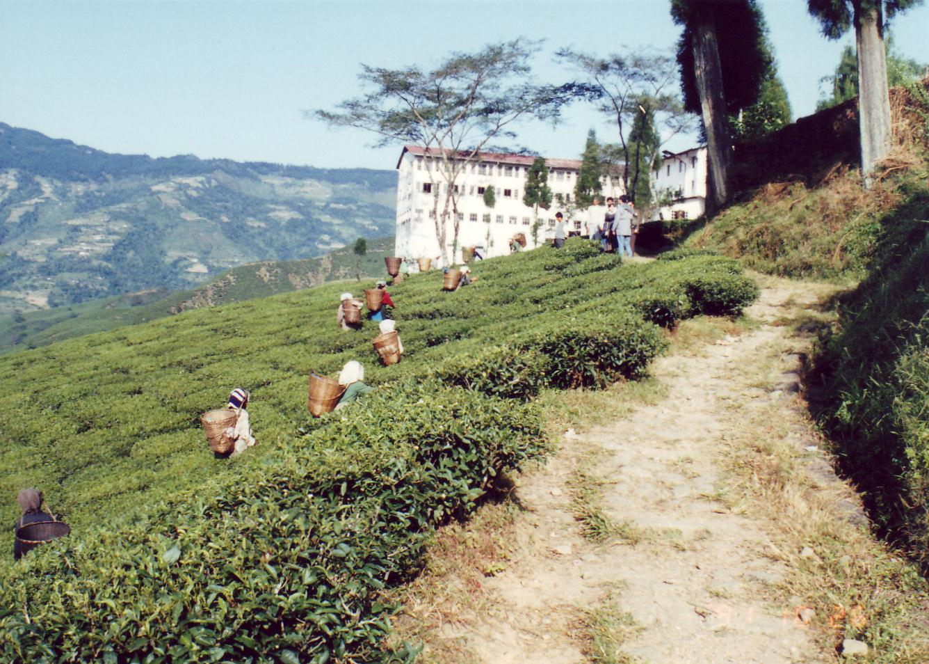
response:
[[[719,63],[716,25],[707,11],[699,11],[694,25],[694,74],[710,166],[707,178],[707,212],[725,205],[729,198],[729,171],[732,166],[732,139],[726,126],[726,100],[723,96],[723,69]]]

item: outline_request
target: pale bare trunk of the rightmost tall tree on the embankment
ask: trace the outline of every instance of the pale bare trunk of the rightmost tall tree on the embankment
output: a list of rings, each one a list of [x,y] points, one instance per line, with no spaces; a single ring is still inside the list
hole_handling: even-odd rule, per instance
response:
[[[861,176],[870,174],[890,149],[890,97],[883,46],[881,3],[862,9],[855,3],[855,43],[858,52],[858,135],[861,137]]]

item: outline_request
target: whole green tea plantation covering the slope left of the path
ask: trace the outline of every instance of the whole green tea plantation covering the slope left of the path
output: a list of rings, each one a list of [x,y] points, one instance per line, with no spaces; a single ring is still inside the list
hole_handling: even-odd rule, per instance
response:
[[[73,527],[0,563],[0,660],[411,661],[384,650],[379,593],[435,525],[544,454],[534,396],[638,378],[661,326],[757,296],[732,259],[620,264],[581,240],[473,272],[453,293],[440,272],[390,288],[406,353],[389,367],[375,324],[336,326],[344,285],[0,358],[0,495],[38,486]],[[310,418],[308,372],[352,359],[378,389]],[[258,446],[216,459],[199,416],[235,386]]]

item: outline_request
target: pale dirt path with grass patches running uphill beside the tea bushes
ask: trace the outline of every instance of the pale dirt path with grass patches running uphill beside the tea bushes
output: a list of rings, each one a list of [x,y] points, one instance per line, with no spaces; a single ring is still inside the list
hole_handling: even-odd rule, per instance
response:
[[[802,418],[798,358],[789,328],[774,324],[814,300],[802,285],[765,288],[747,312],[755,329],[655,363],[666,386],[657,404],[566,432],[517,490],[526,511],[505,569],[471,581],[437,638],[455,641],[461,661],[488,664],[831,661],[795,608],[771,602],[768,584],[784,574],[769,537],[778,525],[740,514],[720,484],[727,440],[754,409],[779,400],[785,418]],[[584,538],[576,519],[579,469],[599,478],[598,509],[614,525],[606,541]],[[625,612],[622,652],[592,657],[597,619]]]

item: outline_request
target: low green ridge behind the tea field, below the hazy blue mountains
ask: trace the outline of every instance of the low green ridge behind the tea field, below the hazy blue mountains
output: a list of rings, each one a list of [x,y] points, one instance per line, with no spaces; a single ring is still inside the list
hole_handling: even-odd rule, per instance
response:
[[[21,348],[38,348],[55,341],[103,332],[123,325],[145,323],[177,313],[266,298],[332,281],[355,281],[385,275],[384,258],[392,256],[392,237],[368,242],[368,252],[356,264],[350,246],[318,259],[249,263],[222,272],[203,286],[172,293],[151,288],[104,299],[92,299],[54,309],[0,316],[0,354]]]

